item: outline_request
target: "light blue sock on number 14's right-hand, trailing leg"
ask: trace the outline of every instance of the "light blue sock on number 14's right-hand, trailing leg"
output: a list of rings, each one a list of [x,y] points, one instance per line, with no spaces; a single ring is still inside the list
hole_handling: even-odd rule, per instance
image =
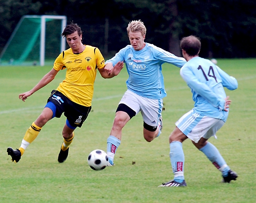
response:
[[[221,153],[212,143],[207,142],[207,144],[199,150],[203,152],[212,164],[222,172],[223,176],[227,176],[230,167],[227,166],[227,163],[221,156]]]

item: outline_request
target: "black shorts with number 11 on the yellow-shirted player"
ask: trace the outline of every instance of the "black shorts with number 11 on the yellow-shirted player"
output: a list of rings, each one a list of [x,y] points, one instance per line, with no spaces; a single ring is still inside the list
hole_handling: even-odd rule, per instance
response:
[[[73,127],[81,127],[92,108],[91,106],[82,106],[72,102],[68,97],[56,90],[51,92],[47,103],[50,101],[56,106],[55,117],[60,118],[64,112],[64,116]]]

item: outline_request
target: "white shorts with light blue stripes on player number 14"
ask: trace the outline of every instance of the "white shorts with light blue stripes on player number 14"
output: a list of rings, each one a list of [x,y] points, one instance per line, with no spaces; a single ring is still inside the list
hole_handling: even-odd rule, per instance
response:
[[[224,125],[221,119],[215,119],[196,113],[193,109],[184,114],[175,125],[190,140],[198,143],[200,138],[209,139]]]

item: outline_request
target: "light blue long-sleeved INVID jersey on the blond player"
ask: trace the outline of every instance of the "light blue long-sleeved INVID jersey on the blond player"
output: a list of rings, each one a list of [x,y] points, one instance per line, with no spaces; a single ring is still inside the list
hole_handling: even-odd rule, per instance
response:
[[[139,51],[134,50],[132,45],[127,45],[106,63],[111,62],[116,65],[119,61],[126,63],[129,75],[126,81],[127,88],[150,99],[166,97],[162,64],[170,63],[182,67],[186,63],[184,58],[177,57],[150,43],[146,43],[146,46]]]

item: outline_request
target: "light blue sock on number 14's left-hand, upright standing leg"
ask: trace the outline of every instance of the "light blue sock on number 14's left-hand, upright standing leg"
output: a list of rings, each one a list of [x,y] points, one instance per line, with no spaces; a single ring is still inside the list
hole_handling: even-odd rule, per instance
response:
[[[172,163],[174,180],[181,183],[184,180],[184,162],[185,162],[185,156],[183,153],[181,142],[174,141],[170,143],[170,160]]]

